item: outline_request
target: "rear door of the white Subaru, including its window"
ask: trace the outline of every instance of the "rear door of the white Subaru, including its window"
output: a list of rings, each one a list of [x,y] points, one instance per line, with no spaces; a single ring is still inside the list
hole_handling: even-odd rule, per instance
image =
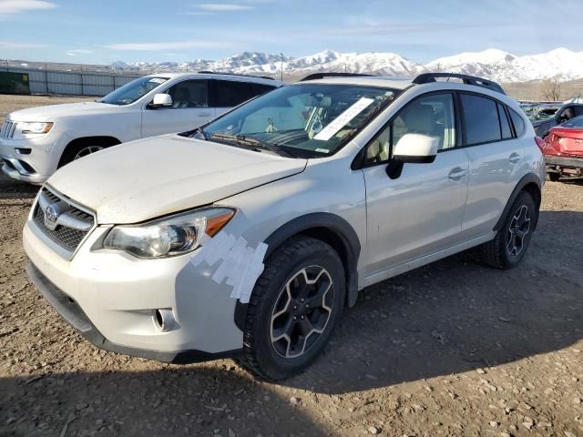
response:
[[[524,146],[517,139],[525,126],[522,117],[492,97],[464,92],[459,98],[470,168],[463,229],[471,239],[492,231],[526,173]],[[517,129],[512,117],[520,123]]]

